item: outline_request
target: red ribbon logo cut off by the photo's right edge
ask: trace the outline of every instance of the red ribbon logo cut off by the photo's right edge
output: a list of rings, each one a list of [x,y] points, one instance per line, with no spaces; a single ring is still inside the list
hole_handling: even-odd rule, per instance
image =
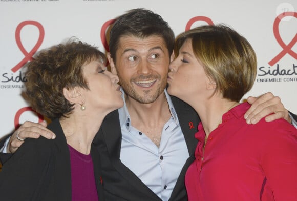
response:
[[[297,13],[296,12],[284,12],[284,13],[280,14],[279,16],[277,16],[277,18],[275,18],[274,23],[273,23],[273,33],[274,33],[275,39],[277,39],[277,42],[280,44],[280,46],[283,48],[283,50],[277,56],[275,56],[270,62],[268,62],[268,64],[270,66],[273,66],[278,61],[280,61],[280,59],[283,58],[283,56],[285,56],[285,54],[289,54],[293,58],[297,59],[297,54],[293,50],[291,50],[291,48],[297,42],[297,34],[295,34],[294,38],[288,45],[286,45],[283,42],[281,35],[280,35],[279,25],[280,25],[282,18],[284,18],[285,16],[294,16],[297,18]]]

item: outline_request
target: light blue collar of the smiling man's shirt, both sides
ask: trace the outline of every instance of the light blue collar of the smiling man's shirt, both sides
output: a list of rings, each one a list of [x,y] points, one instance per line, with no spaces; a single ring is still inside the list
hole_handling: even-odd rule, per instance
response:
[[[122,126],[126,126],[126,128],[130,131],[131,128],[131,118],[127,109],[127,105],[126,105],[126,100],[125,100],[125,92],[123,90],[123,88],[120,88],[120,91],[122,92],[122,98],[124,100],[124,106],[122,108],[119,109],[119,118],[120,118],[120,125]],[[172,118],[174,119],[174,122],[176,123],[177,126],[179,126],[179,120],[175,111],[175,108],[173,106],[172,100],[170,95],[167,93],[167,90],[164,90],[166,99],[167,99],[167,103],[169,105],[169,109],[170,109],[170,113]]]

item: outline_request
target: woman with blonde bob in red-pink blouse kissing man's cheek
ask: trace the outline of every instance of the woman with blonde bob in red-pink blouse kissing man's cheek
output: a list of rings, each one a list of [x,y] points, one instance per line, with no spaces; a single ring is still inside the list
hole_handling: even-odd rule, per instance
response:
[[[257,59],[248,41],[224,25],[182,33],[168,73],[168,93],[201,118],[189,201],[297,200],[297,130],[284,119],[246,124]]]

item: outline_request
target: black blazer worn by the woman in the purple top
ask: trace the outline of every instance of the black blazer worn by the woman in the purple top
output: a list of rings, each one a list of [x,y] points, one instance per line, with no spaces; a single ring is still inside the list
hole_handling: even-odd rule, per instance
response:
[[[0,172],[0,200],[71,200],[70,155],[58,119],[48,128],[56,138],[26,139]],[[91,155],[99,200],[104,200],[100,182],[99,154]],[[95,159],[94,159],[95,158]]]

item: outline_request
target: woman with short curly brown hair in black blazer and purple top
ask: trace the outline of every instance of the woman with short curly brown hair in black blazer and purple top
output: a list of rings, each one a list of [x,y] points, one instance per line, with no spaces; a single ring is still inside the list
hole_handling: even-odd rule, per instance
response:
[[[52,119],[56,138],[26,139],[0,173],[1,200],[104,200],[92,141],[104,117],[123,106],[118,77],[104,63],[96,47],[70,39],[28,64],[27,99]]]

